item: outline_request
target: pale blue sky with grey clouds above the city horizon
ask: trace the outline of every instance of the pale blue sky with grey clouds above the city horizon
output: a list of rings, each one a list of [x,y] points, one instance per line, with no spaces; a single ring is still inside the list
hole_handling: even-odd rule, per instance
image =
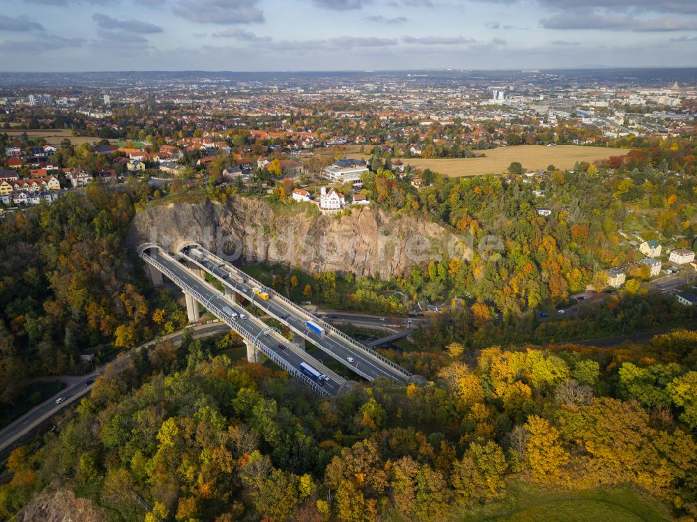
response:
[[[2,0],[0,70],[697,66],[697,0]]]

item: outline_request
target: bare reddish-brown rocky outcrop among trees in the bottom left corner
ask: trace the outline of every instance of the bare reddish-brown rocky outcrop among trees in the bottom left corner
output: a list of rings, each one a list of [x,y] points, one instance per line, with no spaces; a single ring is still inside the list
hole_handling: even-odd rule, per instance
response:
[[[45,491],[17,514],[23,522],[102,522],[107,515],[72,491]]]

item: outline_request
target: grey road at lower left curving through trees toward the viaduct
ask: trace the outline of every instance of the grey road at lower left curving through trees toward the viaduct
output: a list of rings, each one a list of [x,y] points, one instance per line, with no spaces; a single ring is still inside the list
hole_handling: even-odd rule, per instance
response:
[[[227,325],[222,325],[221,323],[201,325],[195,329],[194,337],[214,335],[217,333],[227,332],[228,330],[229,327]],[[171,339],[175,343],[178,343],[181,342],[182,335],[183,332],[176,332],[166,336],[165,338]],[[155,341],[151,341],[135,349],[152,346],[154,343]],[[119,360],[128,360],[130,355],[130,352],[124,353]],[[68,387],[56,393],[53,397],[47,399],[47,401],[35,406],[27,413],[22,415],[22,417],[0,430],[0,452],[4,452],[6,449],[14,445],[17,440],[20,440],[20,438],[25,436],[31,430],[38,427],[39,424],[53,417],[56,415],[56,413],[59,413],[63,408],[68,406],[68,404],[72,404],[73,402],[82,399],[82,397],[92,390],[92,383],[90,381],[94,381],[98,374],[102,373],[108,364],[111,364],[111,362],[103,364],[91,374],[71,378],[71,382]],[[56,399],[59,399],[59,397],[62,397],[63,401],[56,404]]]

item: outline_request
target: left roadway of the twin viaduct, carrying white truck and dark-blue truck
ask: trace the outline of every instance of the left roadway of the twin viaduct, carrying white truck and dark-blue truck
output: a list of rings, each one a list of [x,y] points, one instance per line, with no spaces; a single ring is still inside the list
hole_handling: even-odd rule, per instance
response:
[[[171,270],[181,282],[197,291],[202,298],[201,305],[218,316],[218,318],[225,321],[230,328],[247,340],[259,339],[263,347],[268,351],[266,355],[271,354],[279,358],[280,362],[282,362],[282,366],[284,366],[285,363],[289,367],[295,368],[296,371],[300,372],[301,362],[309,364],[320,371],[321,374],[329,377],[328,381],[321,384],[323,389],[332,395],[337,394],[342,385],[346,383],[346,379],[323,366],[323,364],[305,353],[305,351],[302,351],[285,337],[282,337],[282,335],[279,335],[277,332],[268,332],[268,325],[266,325],[266,323],[247,314],[246,310],[236,304],[231,296],[218,291],[214,286],[194,275],[191,270],[188,270],[183,264],[171,258],[171,256],[162,254],[161,252],[154,253],[152,251],[151,256],[153,256],[155,261],[158,261],[158,263],[161,263]],[[230,312],[235,312],[238,317],[233,318]],[[245,314],[247,318],[242,319],[240,314]],[[279,348],[279,346],[282,346],[282,348]]]

